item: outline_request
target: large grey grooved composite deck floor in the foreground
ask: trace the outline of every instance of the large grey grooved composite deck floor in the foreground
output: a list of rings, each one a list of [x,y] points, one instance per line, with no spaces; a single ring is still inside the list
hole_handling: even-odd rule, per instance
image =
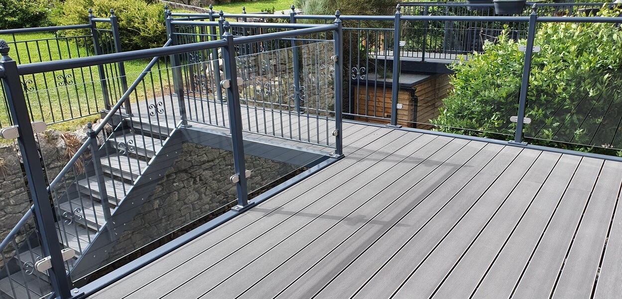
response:
[[[348,124],[346,157],[91,298],[616,298],[622,163]]]

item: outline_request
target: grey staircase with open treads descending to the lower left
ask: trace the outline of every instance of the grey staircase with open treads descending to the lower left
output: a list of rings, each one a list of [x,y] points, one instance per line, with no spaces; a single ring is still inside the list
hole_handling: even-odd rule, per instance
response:
[[[62,248],[75,251],[73,259],[65,263],[68,271],[81,255],[89,252],[90,245],[106,224],[106,214],[114,215],[124,204],[124,198],[172,132],[167,124],[154,125],[136,118],[124,119],[108,137],[99,150],[99,163],[89,161],[84,173],[71,185],[63,187],[65,192],[55,193],[60,195],[54,198],[58,239]],[[103,177],[95,175],[98,165],[101,165]],[[98,180],[103,182],[107,204],[103,202],[106,198],[103,198]],[[6,260],[4,268],[0,268],[0,299],[42,298],[52,292],[48,275],[34,269],[35,262],[43,257],[39,240],[35,233],[28,238],[22,242],[18,253]],[[80,260],[85,259],[88,257]]]

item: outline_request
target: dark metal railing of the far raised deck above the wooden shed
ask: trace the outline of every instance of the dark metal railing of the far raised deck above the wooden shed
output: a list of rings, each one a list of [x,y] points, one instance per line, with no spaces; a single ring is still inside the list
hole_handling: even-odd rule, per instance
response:
[[[466,2],[402,2],[402,16],[477,16],[493,17],[493,4],[467,4]],[[603,3],[537,3],[527,2],[520,14],[529,16],[536,7],[539,16],[572,16],[592,14]],[[588,11],[589,10],[589,11]],[[587,15],[585,15],[587,16]],[[503,30],[510,30],[512,39],[527,37],[526,22],[493,21],[473,19],[472,21],[448,21],[421,19],[404,21],[401,40],[406,44],[400,48],[401,57],[455,60],[456,55],[482,52],[486,40],[496,40]]]

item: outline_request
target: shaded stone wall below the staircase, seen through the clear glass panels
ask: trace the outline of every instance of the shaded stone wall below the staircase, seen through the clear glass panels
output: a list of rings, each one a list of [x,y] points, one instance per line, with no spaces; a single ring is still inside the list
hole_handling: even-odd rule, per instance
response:
[[[246,156],[246,168],[253,170],[249,192],[293,172],[298,166],[260,157]],[[177,228],[192,223],[236,200],[233,154],[198,144],[183,144],[183,152],[142,203],[108,259],[116,259],[156,241]]]

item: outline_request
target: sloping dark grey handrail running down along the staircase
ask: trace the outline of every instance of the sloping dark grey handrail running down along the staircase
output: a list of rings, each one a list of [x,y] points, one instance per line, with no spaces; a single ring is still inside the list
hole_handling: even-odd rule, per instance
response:
[[[172,39],[169,39],[169,40],[167,40],[167,42],[162,47],[169,47],[171,44],[172,44]],[[134,90],[136,90],[136,87],[145,78],[147,73],[149,73],[149,71],[151,71],[151,68],[153,68],[154,65],[156,65],[156,63],[160,59],[160,57],[162,57],[162,56],[156,56],[156,57],[152,58],[151,62],[149,62],[147,67],[145,67],[145,69],[142,71],[141,75],[139,75],[136,78],[136,80],[134,80],[134,83],[132,83],[132,85],[129,86],[128,90],[123,94],[123,96],[121,96],[121,99],[119,99],[119,101],[116,104],[114,104],[113,108],[110,109],[108,114],[106,114],[106,116],[103,119],[101,119],[101,124],[106,124],[108,121],[110,121],[110,119],[114,116],[114,114],[117,111],[119,111],[121,106],[123,106],[123,103],[129,99],[129,96],[132,94],[132,92],[134,92]],[[80,146],[80,149],[78,149],[76,151],[76,153],[73,155],[72,159],[70,159],[69,162],[67,162],[67,165],[65,165],[65,167],[63,167],[63,169],[60,170],[58,175],[49,184],[49,186],[47,187],[47,193],[48,194],[52,193],[53,188],[56,185],[58,185],[58,182],[60,182],[60,180],[67,174],[67,172],[69,172],[69,170],[73,167],[73,165],[77,162],[77,160],[80,159],[80,156],[82,154],[84,154],[84,152],[86,152],[86,149],[88,149],[88,147],[90,146],[90,140],[93,139],[92,136],[97,136],[98,134],[100,134],[100,132],[103,129],[104,129],[104,126],[98,126],[98,127],[95,128],[95,131],[90,133],[91,135],[87,137],[87,139],[85,140],[84,144],[82,144]],[[16,226],[13,229],[11,229],[9,234],[7,234],[7,236],[4,238],[4,240],[2,240],[2,243],[0,243],[0,252],[3,251],[4,248],[6,246],[8,246],[9,242],[11,242],[11,240],[16,237],[17,232],[19,232],[19,230],[23,226],[26,225],[26,222],[28,221],[30,216],[32,216],[32,211],[33,210],[34,210],[34,205],[30,206],[30,209],[28,209],[28,211],[26,211],[24,216],[22,216],[22,219],[20,219],[17,222]]]

